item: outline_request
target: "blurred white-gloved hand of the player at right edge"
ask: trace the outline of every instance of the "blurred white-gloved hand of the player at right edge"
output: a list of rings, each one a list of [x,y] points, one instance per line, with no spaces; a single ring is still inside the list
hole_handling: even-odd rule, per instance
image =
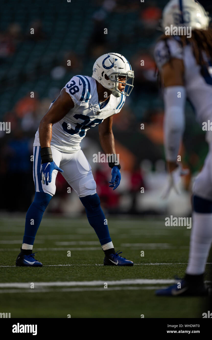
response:
[[[168,164],[168,168],[169,168],[169,174],[168,174],[168,179],[167,179],[167,185],[161,195],[161,198],[163,199],[168,197],[172,188],[179,195],[180,194],[180,189],[179,189],[180,177],[187,175],[189,173],[189,169],[182,169],[181,164],[175,167],[172,166],[171,164]]]

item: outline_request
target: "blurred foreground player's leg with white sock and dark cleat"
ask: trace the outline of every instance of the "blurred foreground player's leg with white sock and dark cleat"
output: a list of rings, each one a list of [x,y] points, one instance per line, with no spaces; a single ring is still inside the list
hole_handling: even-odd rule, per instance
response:
[[[157,295],[207,295],[204,272],[212,243],[212,151],[210,150],[202,171],[193,187],[192,231],[189,264],[179,285],[156,291]]]

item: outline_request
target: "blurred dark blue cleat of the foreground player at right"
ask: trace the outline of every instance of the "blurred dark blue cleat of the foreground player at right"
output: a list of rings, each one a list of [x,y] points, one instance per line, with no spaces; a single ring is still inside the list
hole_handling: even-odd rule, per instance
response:
[[[204,283],[190,285],[186,280],[181,280],[177,284],[164,289],[156,290],[157,296],[207,296],[209,290]]]

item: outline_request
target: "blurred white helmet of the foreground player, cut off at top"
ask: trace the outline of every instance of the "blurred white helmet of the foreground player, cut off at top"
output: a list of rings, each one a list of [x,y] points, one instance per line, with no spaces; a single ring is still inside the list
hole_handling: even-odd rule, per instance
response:
[[[162,27],[185,26],[192,30],[207,30],[210,18],[205,8],[196,0],[171,0],[162,13]]]

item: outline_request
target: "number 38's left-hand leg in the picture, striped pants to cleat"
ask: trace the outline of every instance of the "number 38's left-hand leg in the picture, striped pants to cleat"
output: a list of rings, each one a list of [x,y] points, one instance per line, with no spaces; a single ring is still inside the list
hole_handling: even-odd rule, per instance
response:
[[[48,185],[43,184],[42,181],[40,181],[40,147],[33,148],[33,156],[33,179],[35,183],[35,197],[34,201],[27,211],[23,244],[21,247],[21,252],[16,260],[16,266],[42,266],[41,262],[35,260],[34,257],[31,256],[32,248],[35,240],[35,235],[42,220],[44,211],[56,191],[55,180],[58,171],[53,170],[51,183],[49,183]],[[56,165],[60,166],[62,152],[52,148],[52,157]]]

